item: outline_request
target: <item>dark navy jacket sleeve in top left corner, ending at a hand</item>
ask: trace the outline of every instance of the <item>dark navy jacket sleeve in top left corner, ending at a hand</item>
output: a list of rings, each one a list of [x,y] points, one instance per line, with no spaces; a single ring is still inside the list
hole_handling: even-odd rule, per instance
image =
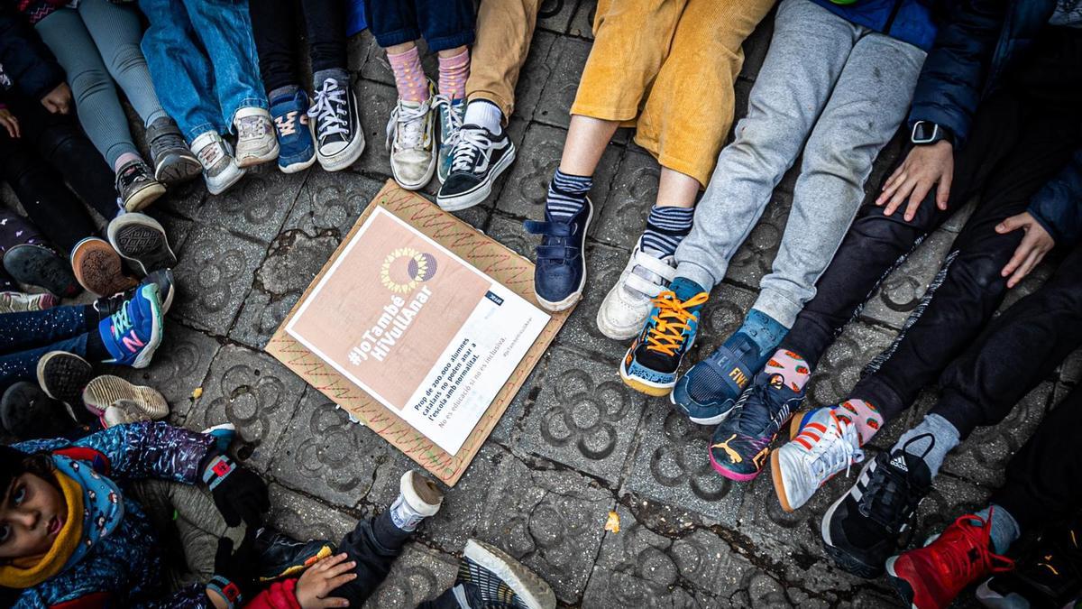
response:
[[[40,100],[64,82],[64,69],[21,15],[0,7],[0,64],[16,90]]]

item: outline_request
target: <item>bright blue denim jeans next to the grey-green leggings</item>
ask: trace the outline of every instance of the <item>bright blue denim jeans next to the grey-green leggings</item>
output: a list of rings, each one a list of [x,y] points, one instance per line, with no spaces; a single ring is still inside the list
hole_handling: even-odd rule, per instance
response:
[[[259,1],[259,0],[256,0]],[[143,54],[161,105],[192,142],[233,131],[243,107],[267,107],[247,0],[140,0]]]

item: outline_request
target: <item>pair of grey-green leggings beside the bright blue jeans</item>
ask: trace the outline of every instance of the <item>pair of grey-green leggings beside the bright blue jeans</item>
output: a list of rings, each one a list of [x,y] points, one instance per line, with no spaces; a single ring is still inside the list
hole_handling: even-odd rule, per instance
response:
[[[78,9],[57,9],[36,28],[67,72],[82,128],[109,167],[116,169],[124,153],[138,155],[113,81],[144,125],[168,115],[140,49],[143,27],[135,10],[108,0],[80,0]]]

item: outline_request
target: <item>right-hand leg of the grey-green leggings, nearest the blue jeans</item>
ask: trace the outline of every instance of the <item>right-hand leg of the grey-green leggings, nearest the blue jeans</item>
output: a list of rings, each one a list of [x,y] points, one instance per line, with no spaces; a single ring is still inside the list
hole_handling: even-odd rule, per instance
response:
[[[143,125],[149,127],[159,118],[168,118],[140,49],[143,25],[135,10],[109,0],[80,0],[79,15],[94,38],[109,74],[124,91]]]

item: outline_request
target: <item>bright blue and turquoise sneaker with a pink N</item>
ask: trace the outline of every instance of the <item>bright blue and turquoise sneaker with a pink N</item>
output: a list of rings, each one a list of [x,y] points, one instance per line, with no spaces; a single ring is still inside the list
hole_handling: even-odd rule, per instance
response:
[[[98,322],[98,333],[110,358],[106,364],[143,368],[161,344],[162,313],[158,286],[141,285],[120,310]]]

